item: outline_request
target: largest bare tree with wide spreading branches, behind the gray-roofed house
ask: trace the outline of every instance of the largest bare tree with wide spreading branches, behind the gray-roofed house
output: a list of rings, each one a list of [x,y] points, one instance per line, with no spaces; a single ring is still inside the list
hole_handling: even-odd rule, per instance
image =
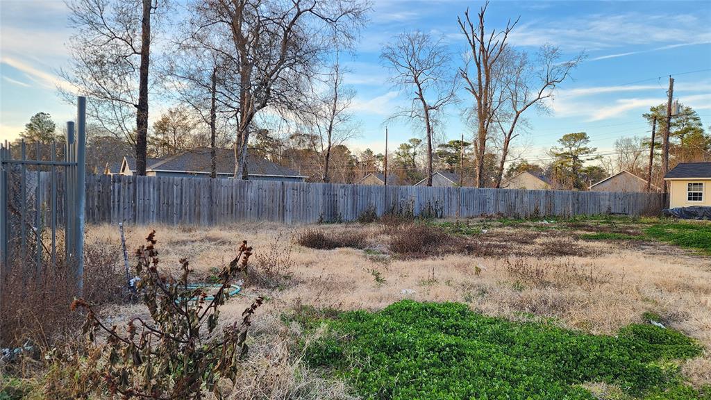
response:
[[[247,179],[252,121],[267,107],[298,110],[323,56],[348,48],[365,20],[363,0],[199,0],[200,26],[217,29],[230,47],[215,48],[232,66],[237,138],[235,177]]]

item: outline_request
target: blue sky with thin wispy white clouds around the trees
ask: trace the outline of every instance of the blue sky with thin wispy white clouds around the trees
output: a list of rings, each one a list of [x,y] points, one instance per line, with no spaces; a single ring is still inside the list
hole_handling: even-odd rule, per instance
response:
[[[402,31],[444,36],[454,63],[464,50],[456,17],[481,1],[373,1],[370,23],[363,31],[349,66],[348,83],[358,91],[353,111],[360,121],[355,149],[384,149],[383,121],[407,96],[388,83],[378,58],[383,43]],[[535,51],[544,43],[559,46],[567,57],[580,51],[587,60],[573,80],[557,91],[550,114],[528,114],[530,128],[518,150],[528,159],[545,158],[545,149],[565,133],[584,131],[592,145],[605,151],[614,140],[646,136],[641,117],[665,101],[668,75],[675,78],[675,98],[695,108],[705,127],[711,125],[710,1],[493,1],[488,23],[501,28],[520,16],[511,43]],[[13,139],[36,112],[50,112],[58,125],[72,118],[73,108],[55,90],[56,71],[67,65],[64,43],[70,32],[63,1],[0,0],[0,139]],[[151,98],[153,104],[160,99]],[[451,107],[439,133],[447,139],[471,132],[461,122],[460,107]],[[157,117],[164,105],[154,107]],[[391,148],[419,135],[410,125],[390,124]]]

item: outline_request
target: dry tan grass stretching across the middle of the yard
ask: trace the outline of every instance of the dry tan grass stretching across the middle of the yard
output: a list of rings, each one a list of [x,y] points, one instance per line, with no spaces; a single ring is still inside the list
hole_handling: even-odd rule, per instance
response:
[[[387,253],[391,233],[401,227],[401,223],[392,223],[389,228],[346,224],[319,229],[326,236],[357,229],[367,238],[368,248]],[[132,227],[127,232],[129,248],[141,243],[149,228],[156,228],[159,233],[162,264],[177,265],[177,260],[186,256],[193,268],[205,273],[229,260],[242,239],[258,243],[256,256],[272,246],[274,232],[282,230],[293,238],[304,229],[269,223],[247,228]],[[93,231],[104,240],[118,238],[113,227],[101,226]],[[506,243],[507,237],[515,243]],[[559,234],[516,228],[493,229],[480,240],[488,246],[503,243],[503,247],[493,248],[485,256],[454,253],[429,258],[387,257],[387,262],[380,263],[373,260],[373,251],[294,246],[294,279],[290,285],[281,290],[247,288],[245,295],[269,295],[273,300],[265,305],[264,314],[297,304],[374,310],[402,298],[459,301],[487,315],[554,318],[566,327],[606,334],[631,322],[641,322],[644,312],[656,312],[666,325],[704,344],[705,357],[686,362],[683,371],[695,384],[711,384],[709,258],[663,245],[629,248],[616,243],[561,241]],[[550,248],[570,247],[577,250],[551,255]],[[512,254],[518,256],[512,258]],[[514,261],[545,270],[543,277],[537,281],[525,274],[517,276],[508,266]],[[378,271],[382,281],[375,281],[373,270]],[[230,300],[223,312],[225,322],[239,318],[243,308],[240,301]],[[258,315],[255,320],[259,319]],[[268,358],[279,359],[278,354]]]

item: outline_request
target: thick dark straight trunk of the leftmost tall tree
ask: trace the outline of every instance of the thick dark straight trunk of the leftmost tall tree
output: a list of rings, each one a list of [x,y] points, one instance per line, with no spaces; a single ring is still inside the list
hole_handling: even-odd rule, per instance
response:
[[[151,0],[143,0],[141,19],[141,66],[136,112],[136,169],[146,174],[146,149],[148,147],[148,68],[151,53]]]

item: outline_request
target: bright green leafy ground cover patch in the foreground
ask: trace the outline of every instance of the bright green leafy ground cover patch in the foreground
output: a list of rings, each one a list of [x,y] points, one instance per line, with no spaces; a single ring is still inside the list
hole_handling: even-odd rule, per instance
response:
[[[315,315],[302,312],[301,322],[314,327]],[[617,386],[621,399],[711,399],[685,385],[672,361],[701,347],[653,325],[590,335],[412,300],[323,321],[328,333],[306,359],[365,399],[594,399],[584,384],[596,382]]]

